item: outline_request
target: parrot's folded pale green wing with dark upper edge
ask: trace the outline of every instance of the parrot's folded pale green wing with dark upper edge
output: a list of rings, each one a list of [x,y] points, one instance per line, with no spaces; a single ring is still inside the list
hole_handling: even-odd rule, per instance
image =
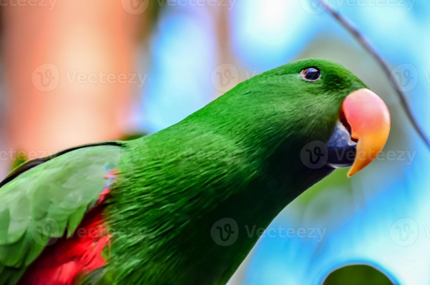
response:
[[[67,149],[28,161],[0,183],[0,284],[15,284],[52,239],[66,239],[100,202],[120,142]],[[102,195],[101,195],[102,194]]]

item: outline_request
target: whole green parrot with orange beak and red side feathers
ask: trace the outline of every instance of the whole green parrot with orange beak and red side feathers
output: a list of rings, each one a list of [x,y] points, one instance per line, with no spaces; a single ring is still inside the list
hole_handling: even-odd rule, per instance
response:
[[[0,284],[225,284],[279,212],[383,148],[384,102],[343,66],[289,63],[131,141],[27,161],[0,183]]]

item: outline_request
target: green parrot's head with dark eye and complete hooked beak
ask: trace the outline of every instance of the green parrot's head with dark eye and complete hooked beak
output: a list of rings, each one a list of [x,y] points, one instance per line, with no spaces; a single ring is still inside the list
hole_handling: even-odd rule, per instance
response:
[[[278,158],[271,165],[288,160],[290,172],[303,171],[292,170],[301,153],[325,156],[319,167],[351,167],[350,177],[376,158],[390,131],[382,99],[347,68],[324,59],[304,59],[259,74],[213,104],[223,105],[203,108],[208,116],[266,146],[266,157]]]

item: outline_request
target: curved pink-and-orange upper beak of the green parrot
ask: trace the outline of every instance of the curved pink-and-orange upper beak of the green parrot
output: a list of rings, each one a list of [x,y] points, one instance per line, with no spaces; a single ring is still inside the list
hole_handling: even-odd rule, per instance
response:
[[[342,111],[351,127],[351,138],[358,139],[356,157],[348,172],[351,177],[381,152],[390,133],[390,112],[384,101],[369,89],[348,95]]]

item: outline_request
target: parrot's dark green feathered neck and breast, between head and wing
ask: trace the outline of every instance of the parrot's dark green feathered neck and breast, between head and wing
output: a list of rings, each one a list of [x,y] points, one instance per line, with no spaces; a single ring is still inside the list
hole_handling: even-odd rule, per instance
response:
[[[123,157],[107,223],[144,235],[113,239],[111,276],[140,278],[144,270],[154,273],[148,283],[225,284],[258,231],[333,171],[304,166],[301,138],[217,126],[183,121],[128,143],[139,159]],[[245,131],[252,135],[237,139]]]

